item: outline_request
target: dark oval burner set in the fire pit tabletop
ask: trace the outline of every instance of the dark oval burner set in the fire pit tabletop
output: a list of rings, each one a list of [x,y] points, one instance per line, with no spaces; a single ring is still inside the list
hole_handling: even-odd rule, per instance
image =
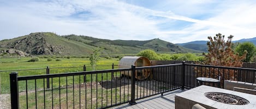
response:
[[[247,105],[249,101],[238,97],[236,95],[227,94],[227,93],[220,93],[220,92],[207,92],[205,93],[205,97],[215,100],[218,102],[222,102],[224,104],[231,104],[231,105]]]

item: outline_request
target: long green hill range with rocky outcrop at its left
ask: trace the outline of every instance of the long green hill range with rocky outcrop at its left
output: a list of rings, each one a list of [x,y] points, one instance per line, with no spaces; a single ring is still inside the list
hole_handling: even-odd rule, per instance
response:
[[[158,53],[198,53],[160,39],[147,41],[105,40],[89,36],[65,35],[53,33],[31,33],[15,39],[0,41],[1,48],[17,49],[31,55],[88,55],[94,47],[102,47],[103,54],[136,54],[144,49],[153,49]]]

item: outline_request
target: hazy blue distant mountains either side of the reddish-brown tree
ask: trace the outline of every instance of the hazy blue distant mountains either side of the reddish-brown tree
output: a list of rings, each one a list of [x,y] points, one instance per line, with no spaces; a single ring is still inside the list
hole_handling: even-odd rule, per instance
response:
[[[252,39],[241,39],[241,40],[238,40],[238,41],[233,41],[234,43],[235,42],[239,42],[239,43],[242,43],[242,42],[252,42],[255,46],[256,46],[256,37],[252,38]],[[177,45],[179,46],[182,46],[182,47],[186,47],[186,48],[190,48],[190,49],[194,49],[194,50],[200,50],[200,51],[203,51],[203,52],[208,52],[207,51],[207,41],[192,41],[192,42],[187,42],[187,43],[176,43]]]

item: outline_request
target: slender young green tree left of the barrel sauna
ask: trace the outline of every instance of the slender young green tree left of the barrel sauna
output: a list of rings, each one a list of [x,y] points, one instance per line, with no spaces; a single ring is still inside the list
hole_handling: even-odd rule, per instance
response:
[[[100,52],[102,51],[101,48],[99,47],[96,47],[94,48],[93,50],[93,53],[91,54],[90,56],[90,64],[92,66],[92,70],[95,70],[96,66],[97,66],[97,62],[99,61],[100,59]]]

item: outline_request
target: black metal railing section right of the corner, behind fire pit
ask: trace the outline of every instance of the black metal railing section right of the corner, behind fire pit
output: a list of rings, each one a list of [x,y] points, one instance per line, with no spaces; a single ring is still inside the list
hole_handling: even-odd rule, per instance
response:
[[[184,83],[187,88],[194,88],[198,86],[197,77],[215,78],[220,80],[220,87],[224,87],[224,80],[250,82],[256,84],[256,69],[253,68],[238,68],[238,67],[224,67],[211,65],[197,65],[185,63]],[[210,86],[217,86],[215,84],[205,84]]]

